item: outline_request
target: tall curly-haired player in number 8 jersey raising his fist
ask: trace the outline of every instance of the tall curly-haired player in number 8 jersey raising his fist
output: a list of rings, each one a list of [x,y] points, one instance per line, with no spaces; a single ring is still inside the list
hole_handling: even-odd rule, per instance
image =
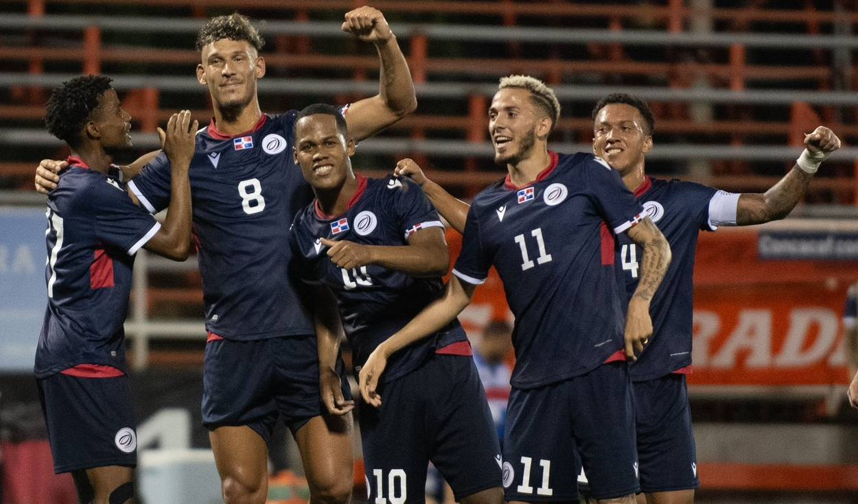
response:
[[[343,111],[360,141],[414,111],[414,85],[378,9],[348,12],[342,29],[372,42],[381,62],[380,93]],[[297,111],[259,109],[262,46],[238,14],[208,21],[196,40],[202,58],[196,77],[208,87],[215,116],[196,137],[201,154],[190,171],[208,330],[203,423],[228,504],[265,501],[268,441],[280,416],[297,441],[311,503],[339,504],[352,489],[351,416],[323,416],[313,322],[295,290],[297,279],[287,274],[292,253],[283,223],[292,222],[312,192],[294,164]],[[149,154],[126,168],[127,175],[145,162],[130,188],[155,212],[170,199],[170,163]]]

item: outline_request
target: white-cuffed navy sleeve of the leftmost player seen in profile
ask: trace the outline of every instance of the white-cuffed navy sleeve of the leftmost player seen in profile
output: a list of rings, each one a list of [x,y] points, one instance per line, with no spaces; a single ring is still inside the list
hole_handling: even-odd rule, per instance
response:
[[[136,206],[124,189],[107,180],[89,190],[88,205],[95,219],[96,237],[128,255],[135,255],[160,229],[151,213]]]

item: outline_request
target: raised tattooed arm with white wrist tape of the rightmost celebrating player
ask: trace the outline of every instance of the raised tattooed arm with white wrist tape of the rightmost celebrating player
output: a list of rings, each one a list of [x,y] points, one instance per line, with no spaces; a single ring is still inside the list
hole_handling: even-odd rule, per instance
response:
[[[805,136],[805,151],[795,166],[763,194],[742,194],[736,206],[736,225],[763,224],[786,217],[813,179],[819,165],[840,148],[840,139],[831,129],[819,126]]]

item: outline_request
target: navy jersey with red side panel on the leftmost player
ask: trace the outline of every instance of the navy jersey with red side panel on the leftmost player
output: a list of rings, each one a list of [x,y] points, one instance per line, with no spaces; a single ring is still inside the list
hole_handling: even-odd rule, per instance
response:
[[[118,180],[89,170],[79,158],[69,158],[69,165],[48,195],[39,378],[78,364],[125,371],[123,322],[134,255],[160,228]]]

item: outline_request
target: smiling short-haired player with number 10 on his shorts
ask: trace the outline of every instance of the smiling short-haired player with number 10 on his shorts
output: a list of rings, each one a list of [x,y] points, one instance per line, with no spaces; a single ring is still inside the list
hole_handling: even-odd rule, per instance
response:
[[[444,226],[408,179],[353,174],[353,138],[331,105],[295,123],[295,157],[316,200],[292,226],[294,265],[314,285],[323,401],[350,411],[337,372],[341,323],[355,369],[437,299],[450,255]],[[501,462],[492,413],[456,318],[390,358],[384,404],[359,410],[368,499],[421,502],[430,460],[464,504],[501,504]]]

